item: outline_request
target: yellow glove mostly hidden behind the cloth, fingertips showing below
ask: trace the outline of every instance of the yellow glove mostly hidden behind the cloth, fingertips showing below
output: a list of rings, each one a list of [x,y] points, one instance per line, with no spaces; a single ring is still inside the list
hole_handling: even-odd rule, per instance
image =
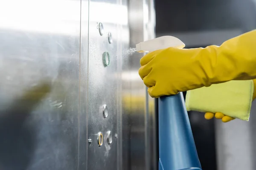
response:
[[[253,84],[254,84],[254,92],[253,92],[253,100],[256,98],[256,79],[253,79]],[[211,112],[207,112],[204,114],[204,118],[209,120],[212,119],[215,116],[216,119],[221,119],[222,122],[230,122],[231,120],[235,119],[233,117],[230,116],[226,116],[221,112],[217,112],[217,113],[211,113]]]

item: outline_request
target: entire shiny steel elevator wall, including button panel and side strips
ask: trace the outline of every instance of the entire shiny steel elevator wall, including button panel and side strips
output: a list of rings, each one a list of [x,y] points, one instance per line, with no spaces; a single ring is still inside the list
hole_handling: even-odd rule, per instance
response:
[[[0,0],[0,169],[156,169],[151,38],[152,0]]]

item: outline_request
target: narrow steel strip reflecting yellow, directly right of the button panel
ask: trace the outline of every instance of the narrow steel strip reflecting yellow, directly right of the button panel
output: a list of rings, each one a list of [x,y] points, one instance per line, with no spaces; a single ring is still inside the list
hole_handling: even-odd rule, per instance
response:
[[[144,14],[143,1],[129,1],[129,29],[130,29],[130,46],[135,47],[138,42],[144,41]],[[147,141],[145,140],[146,130],[146,88],[138,76],[140,68],[140,58],[142,54],[135,53],[129,59],[131,74],[137,79],[131,80],[131,113],[129,115],[130,126],[130,169],[131,170],[148,170],[148,155],[146,155]],[[139,100],[140,99],[140,100]],[[137,101],[136,101],[137,100]]]

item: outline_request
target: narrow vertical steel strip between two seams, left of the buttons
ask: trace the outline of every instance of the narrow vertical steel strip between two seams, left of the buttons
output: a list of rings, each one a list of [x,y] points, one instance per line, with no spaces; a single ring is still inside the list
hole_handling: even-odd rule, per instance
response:
[[[79,74],[79,170],[87,169],[87,125],[88,125],[88,27],[89,0],[81,0],[80,30],[80,74]]]

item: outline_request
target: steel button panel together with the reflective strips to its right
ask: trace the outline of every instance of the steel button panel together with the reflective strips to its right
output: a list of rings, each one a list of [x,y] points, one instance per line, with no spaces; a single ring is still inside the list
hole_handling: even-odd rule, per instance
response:
[[[154,16],[154,11],[144,13],[148,12],[146,3],[154,9],[151,1],[90,1],[88,138],[92,144],[88,147],[88,169],[156,168],[154,101],[150,99],[148,105],[146,88],[137,73],[142,55],[134,54],[133,49],[135,43],[154,37],[154,20],[150,16]],[[150,20],[145,22],[145,18]],[[148,32],[145,24],[153,31]],[[106,52],[109,65],[104,65]],[[108,117],[102,113],[103,105],[108,107]],[[109,131],[111,144],[108,144]],[[99,147],[100,133],[104,140]]]

